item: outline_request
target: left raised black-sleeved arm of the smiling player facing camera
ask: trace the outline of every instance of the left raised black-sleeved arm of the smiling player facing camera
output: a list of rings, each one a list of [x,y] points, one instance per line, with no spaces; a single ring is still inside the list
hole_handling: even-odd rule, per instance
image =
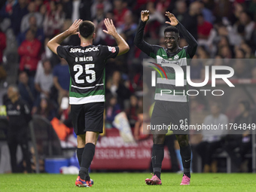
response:
[[[150,56],[151,53],[153,53],[153,47],[151,44],[148,44],[143,39],[143,33],[144,28],[149,19],[149,11],[145,10],[141,13],[141,21],[139,22],[139,27],[136,32],[136,36],[134,38],[134,44],[142,50],[144,53],[146,53],[148,56]]]

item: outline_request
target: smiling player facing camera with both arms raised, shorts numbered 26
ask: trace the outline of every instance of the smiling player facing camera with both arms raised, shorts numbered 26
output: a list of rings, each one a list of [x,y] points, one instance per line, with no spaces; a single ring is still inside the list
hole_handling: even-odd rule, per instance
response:
[[[181,158],[184,167],[184,175],[181,185],[190,184],[190,161],[191,161],[191,148],[188,142],[188,135],[185,126],[189,123],[189,105],[188,96],[186,95],[186,78],[184,78],[184,87],[175,86],[175,71],[168,63],[172,63],[181,68],[186,74],[186,66],[188,59],[192,59],[197,51],[197,41],[194,37],[187,32],[184,26],[178,22],[176,17],[166,11],[167,26],[164,30],[164,43],[165,47],[158,45],[148,44],[143,40],[143,32],[145,25],[149,19],[149,11],[142,11],[141,21],[137,29],[134,43],[144,53],[148,54],[154,59],[157,59],[157,65],[160,66],[166,73],[166,78],[157,77],[157,86],[155,91],[155,105],[151,117],[151,127],[157,125],[172,125],[178,126],[178,130],[172,130],[176,135],[178,144],[181,148]],[[179,47],[178,41],[180,39],[179,33],[185,38],[188,46]],[[176,74],[177,75],[177,74]],[[161,90],[172,90],[172,93],[163,94]],[[183,94],[173,94],[173,93]],[[173,126],[170,126],[173,127]],[[145,180],[146,184],[162,184],[160,174],[163,161],[163,142],[168,130],[151,130],[153,133],[153,151],[152,151],[152,166],[154,175],[152,178]]]

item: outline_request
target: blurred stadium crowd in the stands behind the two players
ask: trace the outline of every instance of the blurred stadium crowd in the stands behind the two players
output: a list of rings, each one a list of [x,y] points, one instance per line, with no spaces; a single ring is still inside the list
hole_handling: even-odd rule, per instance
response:
[[[106,66],[106,128],[113,127],[114,117],[121,111],[126,113],[131,127],[143,119],[140,115],[143,102],[142,59],[148,56],[133,44],[142,10],[150,11],[150,19],[145,27],[145,41],[150,44],[165,47],[164,13],[170,11],[197,39],[199,47],[194,59],[215,59],[211,65],[218,66],[222,65],[218,59],[256,57],[255,0],[7,0],[2,1],[0,6],[1,81],[5,82],[6,78],[6,56],[16,52],[19,55],[19,73],[18,77],[14,77],[15,82],[32,114],[39,114],[49,121],[57,117],[68,127],[72,127],[69,121],[70,108],[62,108],[62,98],[69,96],[69,66],[65,59],[54,55],[46,44],[50,38],[68,29],[76,19],[95,23],[96,38],[93,44],[114,46],[114,38],[102,32],[105,29],[103,20],[108,17],[114,20],[117,32],[130,46],[128,53],[109,59]],[[77,45],[80,40],[73,35],[62,44]],[[181,37],[180,47],[186,44]],[[191,62],[190,68],[192,79],[204,78],[202,63]],[[234,78],[256,78],[254,65],[237,62],[233,64],[233,69]],[[3,103],[6,99],[5,96]],[[193,111],[205,108],[194,98],[190,105]],[[219,110],[218,105],[211,109],[212,113]],[[139,136],[139,131],[135,133],[135,139],[144,139]],[[204,143],[207,141],[203,139]],[[225,148],[235,159],[236,155],[232,154],[235,147],[230,143]],[[210,151],[218,147],[207,146]],[[202,147],[206,145],[197,146],[197,151],[202,151]],[[205,172],[210,171],[210,155],[202,154]]]

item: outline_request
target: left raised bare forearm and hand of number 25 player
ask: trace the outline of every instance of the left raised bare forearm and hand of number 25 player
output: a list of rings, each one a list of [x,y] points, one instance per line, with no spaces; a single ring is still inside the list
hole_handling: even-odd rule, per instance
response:
[[[70,35],[78,35],[78,27],[81,22],[83,22],[83,20],[75,20],[69,29],[50,39],[50,41],[47,43],[47,47],[53,51],[53,53],[57,54],[57,47],[59,47],[65,38],[69,37]]]

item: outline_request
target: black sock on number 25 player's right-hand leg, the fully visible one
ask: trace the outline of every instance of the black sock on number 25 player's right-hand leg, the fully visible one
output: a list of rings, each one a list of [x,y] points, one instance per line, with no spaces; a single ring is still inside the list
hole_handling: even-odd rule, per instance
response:
[[[84,179],[86,181],[90,181],[88,169],[90,167],[90,163],[92,163],[94,152],[95,145],[93,143],[87,143],[84,146],[79,176],[81,177],[81,179]]]

